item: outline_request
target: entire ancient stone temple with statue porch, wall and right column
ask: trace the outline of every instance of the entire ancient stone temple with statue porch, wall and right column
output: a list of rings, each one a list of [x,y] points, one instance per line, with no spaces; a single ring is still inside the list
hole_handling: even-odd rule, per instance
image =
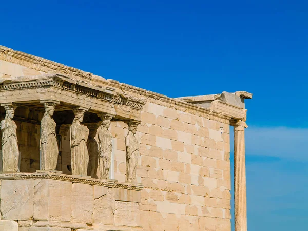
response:
[[[245,91],[168,98],[0,46],[0,230],[246,231]]]

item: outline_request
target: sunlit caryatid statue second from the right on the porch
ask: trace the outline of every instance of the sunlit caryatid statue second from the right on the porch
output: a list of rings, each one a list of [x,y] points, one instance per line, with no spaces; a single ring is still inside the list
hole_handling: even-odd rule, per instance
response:
[[[109,169],[111,166],[112,153],[112,135],[108,130],[112,117],[110,115],[101,115],[102,126],[99,132],[99,161],[98,161],[98,177],[107,179],[109,177]]]

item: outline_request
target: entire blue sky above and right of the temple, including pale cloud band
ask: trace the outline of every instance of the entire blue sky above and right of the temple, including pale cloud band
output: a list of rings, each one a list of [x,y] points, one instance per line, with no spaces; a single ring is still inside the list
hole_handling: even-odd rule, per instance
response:
[[[4,1],[0,44],[169,97],[246,90],[250,231],[307,225],[308,2]]]

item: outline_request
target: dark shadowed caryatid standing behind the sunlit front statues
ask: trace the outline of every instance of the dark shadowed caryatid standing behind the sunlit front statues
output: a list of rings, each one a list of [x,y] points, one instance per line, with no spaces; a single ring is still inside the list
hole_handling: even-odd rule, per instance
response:
[[[99,149],[98,143],[95,140],[97,134],[98,123],[88,123],[86,126],[89,129],[89,137],[87,140],[87,147],[89,152],[89,164],[88,164],[88,176],[92,178],[98,178],[97,169],[98,169],[98,158],[99,158]]]

